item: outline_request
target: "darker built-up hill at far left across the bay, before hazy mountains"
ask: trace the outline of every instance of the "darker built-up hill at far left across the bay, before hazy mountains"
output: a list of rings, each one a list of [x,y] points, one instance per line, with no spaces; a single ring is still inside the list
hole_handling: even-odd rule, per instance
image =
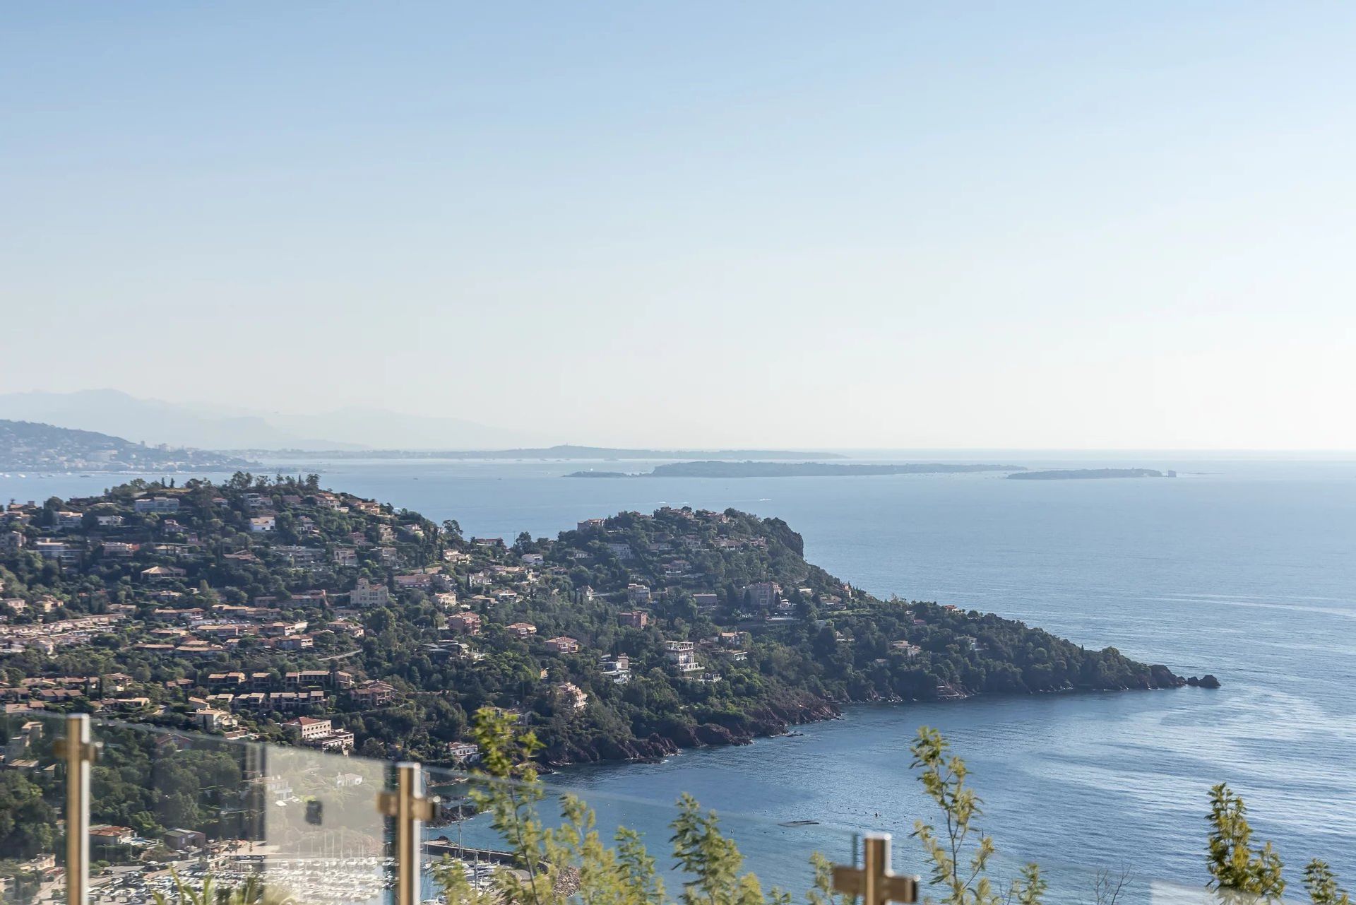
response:
[[[144,446],[92,430],[0,421],[0,471],[229,471],[251,464],[202,449]]]

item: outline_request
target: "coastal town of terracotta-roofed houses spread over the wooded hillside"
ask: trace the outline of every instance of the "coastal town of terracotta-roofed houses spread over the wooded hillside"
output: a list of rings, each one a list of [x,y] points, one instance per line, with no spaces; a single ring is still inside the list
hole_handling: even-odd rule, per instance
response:
[[[587,583],[575,589],[568,583],[565,566],[548,564],[542,552],[510,550],[498,537],[454,540],[441,550],[439,564],[424,564],[426,558],[412,556],[410,547],[422,547],[424,532],[435,533],[438,529],[418,522],[401,524],[389,507],[373,501],[332,493],[305,497],[281,494],[277,498],[259,491],[241,493],[237,502],[244,507],[241,526],[248,531],[247,543],[240,550],[222,552],[220,548],[212,551],[202,543],[195,531],[201,514],[191,510],[184,497],[183,493],[161,488],[121,505],[106,499],[73,499],[65,501],[65,507],[50,512],[33,502],[4,507],[0,548],[8,554],[37,554],[46,566],[56,566],[64,575],[79,573],[84,564],[113,567],[119,575],[125,574],[129,588],[115,592],[117,602],[107,592],[81,592],[76,600],[50,592],[0,597],[0,619],[4,619],[0,624],[0,653],[34,651],[58,658],[115,632],[130,642],[127,650],[133,651],[133,658],[146,663],[172,663],[170,672],[182,673],[163,681],[146,681],[126,672],[24,676],[0,687],[0,701],[7,712],[73,707],[129,719],[178,719],[226,738],[258,738],[260,727],[270,726],[283,730],[286,738],[302,745],[346,753],[354,748],[354,733],[334,727],[331,719],[317,714],[331,710],[372,711],[389,707],[405,695],[405,691],[382,678],[340,668],[359,653],[367,634],[365,616],[376,609],[414,601],[431,605],[437,612],[438,631],[422,644],[428,657],[473,665],[485,657],[479,642],[488,630],[496,638],[525,642],[546,655],[587,655],[597,661],[597,674],[614,684],[631,680],[628,653],[599,651],[589,640],[567,634],[546,638],[533,621],[494,625],[492,613],[506,606],[511,609],[537,594],[559,600],[564,593],[583,604],[605,597],[625,604],[628,609],[616,615],[618,628],[644,631],[651,625],[648,606],[655,602],[655,593],[650,585],[628,581],[612,594],[599,593]],[[207,514],[218,514],[231,503],[226,495],[214,494]],[[308,512],[358,513],[374,522],[374,537],[369,539],[367,532],[351,532],[342,539],[346,543],[327,548],[271,543],[281,539],[279,516],[293,525],[290,531],[300,535],[297,540],[320,536]],[[721,513],[660,513],[660,517],[667,516],[711,525],[730,521]],[[34,536],[33,529],[39,525],[52,531]],[[153,532],[148,532],[152,525]],[[606,520],[583,521],[578,533],[602,539],[603,550],[618,562],[636,560],[628,543],[607,540],[620,532],[609,532]],[[659,555],[666,592],[698,588],[701,575],[686,559],[674,554],[674,540],[666,536],[647,550]],[[678,537],[677,543],[683,550],[700,550],[702,544],[697,535],[690,533]],[[766,540],[715,540],[715,548],[721,551],[742,547],[765,550]],[[239,592],[201,593],[193,588],[190,570],[201,571],[213,558],[241,566],[267,560],[290,575],[305,575],[317,586],[290,589],[282,600],[277,594],[244,600]],[[590,555],[572,551],[568,559],[576,564],[590,559]],[[358,574],[347,592],[334,586],[334,579],[346,571],[363,573],[363,567],[370,564],[389,570],[389,582]],[[814,594],[810,588],[796,590],[804,597]],[[846,585],[837,590],[839,593],[824,597],[830,612],[843,609],[845,598],[852,596]],[[3,586],[0,593],[4,593]],[[736,608],[740,620],[777,624],[799,619],[795,604],[782,596],[777,582],[751,582],[739,589],[739,597],[744,604],[742,609]],[[723,602],[715,592],[697,589],[692,590],[690,600],[698,612],[708,613]],[[99,612],[72,615],[72,611],[80,609]],[[323,659],[330,663],[324,669],[209,670],[203,666],[229,665],[247,653],[255,659],[277,654],[285,666],[292,658],[304,659],[317,653],[317,636],[319,651],[327,654]],[[712,632],[698,640],[663,639],[662,654],[677,677],[709,684],[720,681],[721,665],[747,659],[750,640],[750,632],[740,630]],[[544,680],[548,678],[548,669],[540,672]],[[567,711],[582,711],[589,701],[589,693],[571,681],[552,682],[551,693]],[[473,760],[473,748],[454,739],[445,754],[453,763],[465,763]]]

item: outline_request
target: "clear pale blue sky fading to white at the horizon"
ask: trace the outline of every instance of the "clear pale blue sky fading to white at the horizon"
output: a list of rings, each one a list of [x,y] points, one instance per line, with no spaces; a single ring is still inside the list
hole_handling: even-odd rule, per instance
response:
[[[11,4],[0,392],[1356,449],[1356,5]]]

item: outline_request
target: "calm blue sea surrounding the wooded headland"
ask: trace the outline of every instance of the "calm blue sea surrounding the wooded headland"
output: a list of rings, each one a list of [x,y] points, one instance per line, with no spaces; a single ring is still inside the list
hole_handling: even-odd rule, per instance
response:
[[[645,802],[667,803],[679,791],[763,818],[731,825],[750,863],[770,875],[797,874],[811,848],[846,852],[838,828],[904,836],[915,817],[930,815],[907,753],[926,723],[970,761],[987,802],[984,826],[1013,858],[1130,862],[1140,877],[1201,879],[1205,790],[1224,780],[1248,799],[1258,834],[1296,868],[1322,856],[1356,877],[1356,463],[1124,464],[1182,476],[565,480],[559,475],[579,465],[551,463],[323,471],[336,487],[509,539],[660,503],[780,516],[804,535],[811,562],[877,594],[993,611],[1224,682],[1218,692],[860,707],[800,737],[555,777],[652,841],[667,839],[669,814]],[[41,499],[107,483],[0,478],[0,497]],[[776,825],[796,820],[820,824]],[[896,862],[913,866],[907,840],[896,845]]]

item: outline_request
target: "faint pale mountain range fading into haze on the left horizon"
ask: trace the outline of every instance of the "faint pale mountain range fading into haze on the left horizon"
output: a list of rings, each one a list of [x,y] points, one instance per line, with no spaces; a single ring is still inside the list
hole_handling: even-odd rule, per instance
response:
[[[382,408],[281,414],[138,399],[118,389],[3,393],[0,418],[198,449],[492,449],[544,440],[460,418]]]

